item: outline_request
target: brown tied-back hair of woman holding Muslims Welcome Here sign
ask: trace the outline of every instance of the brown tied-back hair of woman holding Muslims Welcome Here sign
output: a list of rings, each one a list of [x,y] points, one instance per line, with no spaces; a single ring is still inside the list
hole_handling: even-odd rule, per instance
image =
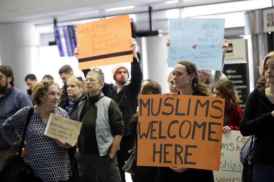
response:
[[[209,90],[207,86],[201,82],[199,82],[199,74],[196,65],[190,61],[179,61],[177,64],[184,65],[186,67],[186,71],[188,75],[193,75],[194,78],[192,80],[192,88],[193,90],[197,90],[202,96],[209,96]]]

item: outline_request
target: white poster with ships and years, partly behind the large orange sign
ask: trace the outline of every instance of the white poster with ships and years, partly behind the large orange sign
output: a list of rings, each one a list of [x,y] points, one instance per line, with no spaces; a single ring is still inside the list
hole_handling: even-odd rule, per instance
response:
[[[221,161],[219,171],[213,171],[215,182],[240,182],[243,164],[240,162],[240,152],[245,141],[240,131],[231,130],[223,134],[221,145]]]

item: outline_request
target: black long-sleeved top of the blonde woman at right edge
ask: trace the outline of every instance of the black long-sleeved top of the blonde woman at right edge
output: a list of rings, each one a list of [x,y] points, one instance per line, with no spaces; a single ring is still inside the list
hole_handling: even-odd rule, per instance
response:
[[[274,104],[265,96],[265,88],[255,88],[249,94],[240,123],[240,131],[243,136],[255,134],[254,164],[274,166],[272,157],[274,146],[271,142],[274,127],[274,118],[271,115],[273,110]]]

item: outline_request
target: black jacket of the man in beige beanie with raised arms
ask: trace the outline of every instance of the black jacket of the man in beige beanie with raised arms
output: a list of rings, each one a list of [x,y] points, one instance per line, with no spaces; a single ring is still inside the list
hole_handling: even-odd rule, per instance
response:
[[[137,53],[137,55],[140,60],[140,54]],[[137,110],[138,94],[140,92],[142,78],[143,74],[140,63],[138,63],[137,59],[133,57],[133,62],[131,62],[130,84],[124,86],[118,94],[116,92],[116,87],[113,84],[105,83],[102,88],[103,94],[113,99],[118,104],[119,109],[122,112],[124,136],[131,134],[129,122]]]

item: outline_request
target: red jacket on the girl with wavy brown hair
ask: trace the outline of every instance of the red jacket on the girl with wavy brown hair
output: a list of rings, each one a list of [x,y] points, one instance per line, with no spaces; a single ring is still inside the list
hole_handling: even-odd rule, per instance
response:
[[[229,109],[228,117],[227,117],[227,126],[229,126],[232,130],[240,130],[240,121],[243,116],[243,110],[239,106],[234,106],[234,108]]]

